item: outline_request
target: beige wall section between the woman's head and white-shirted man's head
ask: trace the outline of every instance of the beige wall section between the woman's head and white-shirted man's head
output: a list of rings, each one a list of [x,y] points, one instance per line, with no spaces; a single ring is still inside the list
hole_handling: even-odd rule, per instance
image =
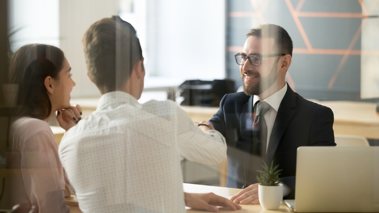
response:
[[[77,83],[71,97],[100,97],[100,92],[86,74],[81,40],[85,31],[105,17],[117,15],[118,0],[60,0],[60,47],[66,54]]]

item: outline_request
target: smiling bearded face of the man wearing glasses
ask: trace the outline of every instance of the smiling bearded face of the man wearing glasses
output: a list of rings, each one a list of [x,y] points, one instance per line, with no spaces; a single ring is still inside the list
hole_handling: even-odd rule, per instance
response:
[[[273,38],[259,38],[249,36],[243,46],[241,54],[271,55],[276,54]],[[262,58],[260,66],[253,66],[249,61],[240,65],[243,91],[248,96],[260,95],[270,88],[276,87],[278,80],[278,58]],[[250,58],[249,58],[250,60]]]

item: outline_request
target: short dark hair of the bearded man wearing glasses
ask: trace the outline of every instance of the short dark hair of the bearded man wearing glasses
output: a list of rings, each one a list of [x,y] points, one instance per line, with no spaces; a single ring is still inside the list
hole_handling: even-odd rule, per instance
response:
[[[255,36],[259,38],[274,38],[275,47],[278,53],[289,54],[292,57],[293,42],[287,31],[278,25],[261,24],[252,28],[246,34],[246,37]]]

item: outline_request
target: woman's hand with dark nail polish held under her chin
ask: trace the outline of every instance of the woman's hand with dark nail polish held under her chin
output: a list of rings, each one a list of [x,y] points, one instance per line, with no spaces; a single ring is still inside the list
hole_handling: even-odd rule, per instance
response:
[[[78,104],[72,105],[56,111],[56,120],[60,127],[67,131],[81,120],[81,114],[81,107]]]

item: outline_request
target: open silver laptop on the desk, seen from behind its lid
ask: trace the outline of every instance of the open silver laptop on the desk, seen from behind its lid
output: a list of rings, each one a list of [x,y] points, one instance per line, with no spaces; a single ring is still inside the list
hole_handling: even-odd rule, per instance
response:
[[[379,212],[379,147],[299,147],[296,212]]]

